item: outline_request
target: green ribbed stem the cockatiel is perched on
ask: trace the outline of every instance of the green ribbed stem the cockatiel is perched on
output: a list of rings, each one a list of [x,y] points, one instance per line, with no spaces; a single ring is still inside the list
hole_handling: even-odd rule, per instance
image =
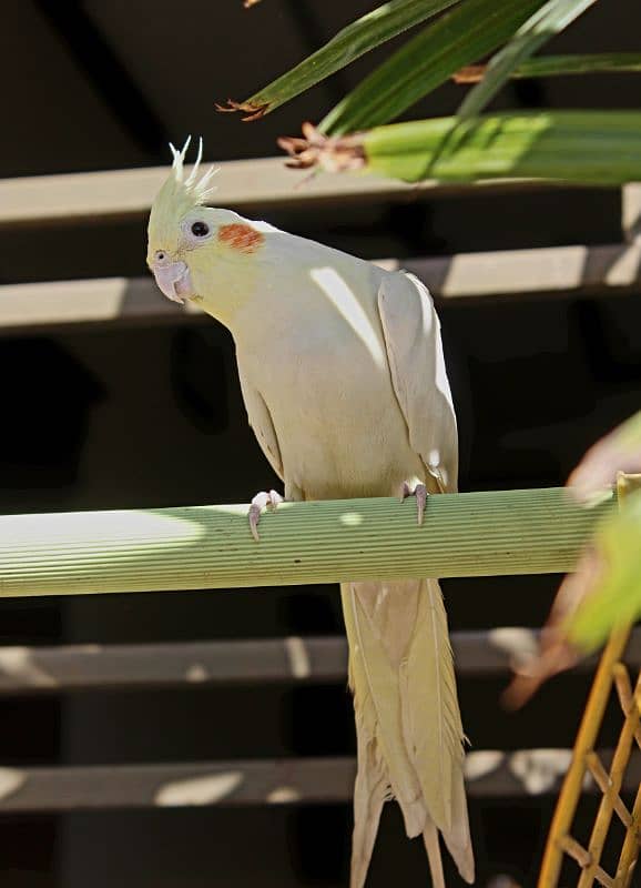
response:
[[[615,503],[563,488],[442,494],[418,526],[396,497],[0,517],[0,597],[206,589],[571,569]]]

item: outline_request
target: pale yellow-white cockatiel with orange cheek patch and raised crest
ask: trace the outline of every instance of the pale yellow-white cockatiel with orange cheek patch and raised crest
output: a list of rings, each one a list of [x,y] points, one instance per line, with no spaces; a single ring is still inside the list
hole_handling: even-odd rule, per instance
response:
[[[187,142],[189,144],[189,142]],[[418,498],[455,491],[456,417],[439,322],[404,272],[204,205],[187,145],[152,206],[147,263],[169,299],[193,300],[235,342],[250,423],[286,500]],[[200,160],[199,152],[199,160]],[[253,532],[265,505],[251,509]],[[423,835],[444,886],[438,830],[474,880],[462,727],[436,579],[344,583],[356,714],[352,888],[362,888],[383,805]]]

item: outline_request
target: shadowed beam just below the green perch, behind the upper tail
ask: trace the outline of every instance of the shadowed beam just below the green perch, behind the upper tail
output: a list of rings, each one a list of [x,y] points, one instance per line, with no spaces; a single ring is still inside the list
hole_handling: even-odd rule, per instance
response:
[[[457,675],[499,676],[515,658],[533,649],[538,632],[501,626],[454,632]],[[591,672],[596,657],[577,673]],[[632,633],[625,663],[641,668],[641,628]],[[0,696],[75,690],[153,689],[194,685],[344,683],[347,643],[343,636],[255,638],[144,645],[0,647]]]

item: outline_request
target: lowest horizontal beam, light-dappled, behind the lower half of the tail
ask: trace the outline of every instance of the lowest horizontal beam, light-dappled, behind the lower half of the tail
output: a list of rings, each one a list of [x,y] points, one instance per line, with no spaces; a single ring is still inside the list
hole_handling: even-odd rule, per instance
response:
[[[527,798],[553,794],[567,770],[569,749],[482,749],[466,757],[470,798]],[[600,757],[606,766],[611,753]],[[179,765],[109,765],[0,768],[0,813],[184,808],[349,803],[352,758],[285,758]],[[641,780],[634,753],[623,793]],[[597,791],[590,781],[586,791]]]

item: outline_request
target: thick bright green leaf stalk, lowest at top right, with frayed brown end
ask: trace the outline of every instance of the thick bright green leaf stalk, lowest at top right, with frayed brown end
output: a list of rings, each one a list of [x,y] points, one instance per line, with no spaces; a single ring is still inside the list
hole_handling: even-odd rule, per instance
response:
[[[417,120],[350,137],[368,172],[418,182],[556,179],[617,185],[641,181],[641,113],[545,111]],[[336,151],[328,143],[325,150]],[[320,158],[323,163],[323,158]]]

